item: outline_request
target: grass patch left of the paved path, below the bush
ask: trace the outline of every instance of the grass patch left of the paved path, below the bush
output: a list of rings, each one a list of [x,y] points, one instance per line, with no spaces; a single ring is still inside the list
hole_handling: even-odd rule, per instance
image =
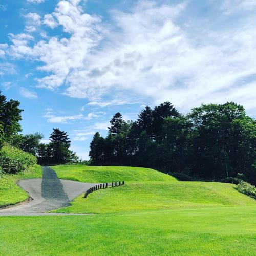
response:
[[[34,165],[19,174],[3,174],[0,176],[0,207],[12,205],[28,199],[29,195],[16,182],[24,179],[41,178],[41,166]]]

